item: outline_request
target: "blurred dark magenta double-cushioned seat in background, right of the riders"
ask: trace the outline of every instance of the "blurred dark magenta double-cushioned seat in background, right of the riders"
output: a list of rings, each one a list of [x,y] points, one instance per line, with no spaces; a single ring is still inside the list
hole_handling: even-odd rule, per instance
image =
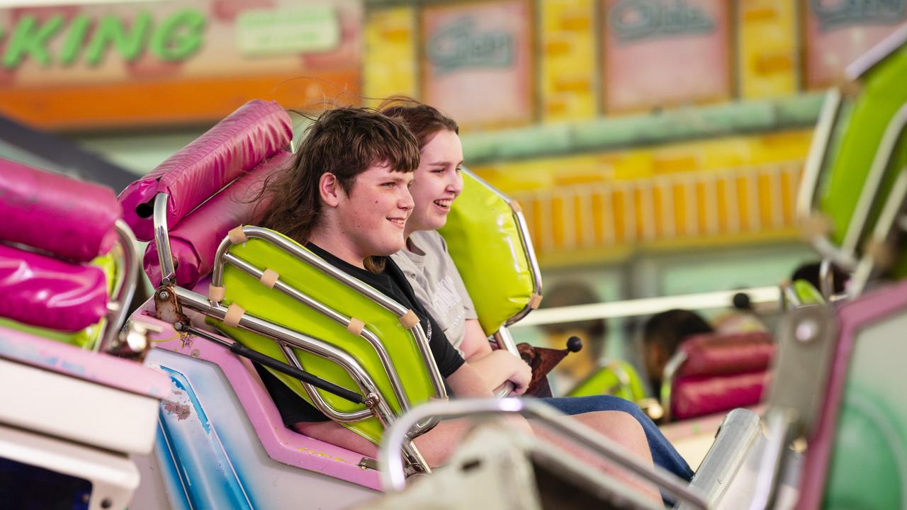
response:
[[[671,386],[673,419],[754,406],[770,377],[776,345],[765,332],[698,335],[679,351],[686,355]]]

